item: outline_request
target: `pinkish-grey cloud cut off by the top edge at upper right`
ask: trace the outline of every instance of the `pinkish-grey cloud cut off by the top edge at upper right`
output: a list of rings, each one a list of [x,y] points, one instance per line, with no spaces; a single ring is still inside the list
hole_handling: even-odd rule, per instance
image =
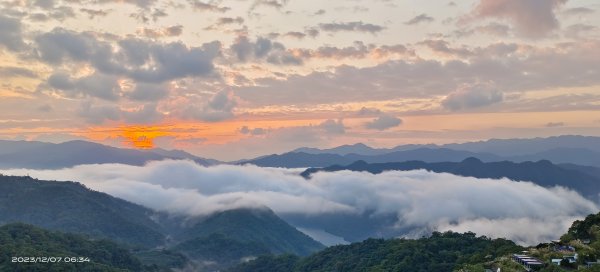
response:
[[[474,18],[509,20],[523,37],[541,38],[559,27],[555,11],[567,0],[480,0]]]

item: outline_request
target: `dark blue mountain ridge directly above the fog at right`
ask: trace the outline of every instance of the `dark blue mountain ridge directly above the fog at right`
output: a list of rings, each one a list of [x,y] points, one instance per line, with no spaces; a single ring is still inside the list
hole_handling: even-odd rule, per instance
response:
[[[346,166],[333,165],[324,168],[309,168],[301,175],[309,178],[310,175],[317,172],[351,170],[379,174],[384,171],[416,169],[425,169],[436,173],[451,173],[465,177],[531,181],[544,187],[562,186],[594,200],[597,200],[598,194],[600,194],[600,168],[555,165],[547,160],[522,163],[510,161],[485,163],[477,158],[467,158],[462,162],[427,163],[423,161],[406,161],[373,164],[357,161]]]

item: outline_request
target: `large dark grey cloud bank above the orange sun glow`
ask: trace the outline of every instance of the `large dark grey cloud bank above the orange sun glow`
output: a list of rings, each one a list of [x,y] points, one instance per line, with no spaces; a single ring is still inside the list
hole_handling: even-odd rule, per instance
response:
[[[188,76],[211,76],[220,43],[188,47],[181,42],[160,43],[136,39],[111,43],[92,33],[57,28],[36,38],[39,58],[50,64],[87,62],[97,71],[142,82],[164,82]],[[120,50],[117,50],[120,49]]]

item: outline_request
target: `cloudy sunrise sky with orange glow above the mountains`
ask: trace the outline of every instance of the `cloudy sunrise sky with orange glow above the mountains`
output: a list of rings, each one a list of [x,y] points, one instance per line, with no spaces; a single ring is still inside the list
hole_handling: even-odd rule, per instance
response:
[[[595,0],[0,0],[0,139],[236,160],[600,136]]]

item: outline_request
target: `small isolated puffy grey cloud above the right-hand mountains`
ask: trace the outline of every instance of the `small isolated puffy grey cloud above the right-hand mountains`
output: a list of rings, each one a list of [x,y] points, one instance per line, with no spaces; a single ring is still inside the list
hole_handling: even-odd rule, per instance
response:
[[[504,94],[491,84],[463,85],[442,101],[444,108],[456,111],[500,103]]]

